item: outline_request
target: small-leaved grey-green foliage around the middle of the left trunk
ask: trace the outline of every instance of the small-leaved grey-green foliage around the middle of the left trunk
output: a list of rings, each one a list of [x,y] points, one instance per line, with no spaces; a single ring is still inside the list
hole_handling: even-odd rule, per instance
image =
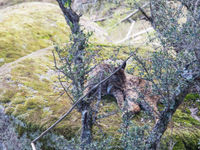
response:
[[[80,31],[70,35],[70,42],[64,47],[56,46],[55,51],[58,55],[56,60],[56,69],[62,73],[62,79],[68,83],[72,83],[68,87],[74,99],[78,99],[84,90],[84,79],[90,70],[92,58],[95,57],[93,50],[89,48],[88,40],[91,33],[83,33]],[[59,66],[57,66],[59,64]],[[64,81],[62,81],[64,82]]]

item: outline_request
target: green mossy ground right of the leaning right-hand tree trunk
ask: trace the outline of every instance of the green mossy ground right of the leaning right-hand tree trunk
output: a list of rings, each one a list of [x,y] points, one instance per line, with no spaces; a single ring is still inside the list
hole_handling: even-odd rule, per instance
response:
[[[199,106],[199,95],[190,93],[184,103],[177,109],[169,124],[162,143],[163,149],[169,147],[169,141],[175,142],[173,150],[196,150],[200,139],[200,122],[191,116],[189,108]],[[200,111],[200,109],[199,109]],[[198,115],[198,114],[197,114]]]

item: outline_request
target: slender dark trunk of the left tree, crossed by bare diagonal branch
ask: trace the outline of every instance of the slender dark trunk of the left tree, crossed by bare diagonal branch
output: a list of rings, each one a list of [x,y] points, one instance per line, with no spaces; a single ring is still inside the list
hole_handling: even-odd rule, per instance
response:
[[[79,97],[81,96],[80,93],[83,93],[84,90],[85,74],[82,73],[84,71],[84,62],[82,57],[84,56],[86,36],[80,29],[80,16],[71,8],[71,1],[57,0],[57,2],[72,32],[73,44],[71,49],[73,49],[74,52],[71,53],[75,57],[74,64],[77,67],[77,79],[73,81],[72,84],[76,90],[76,96]],[[82,115],[81,147],[84,149],[92,140],[92,109],[90,103],[84,100],[78,104],[77,108]]]

